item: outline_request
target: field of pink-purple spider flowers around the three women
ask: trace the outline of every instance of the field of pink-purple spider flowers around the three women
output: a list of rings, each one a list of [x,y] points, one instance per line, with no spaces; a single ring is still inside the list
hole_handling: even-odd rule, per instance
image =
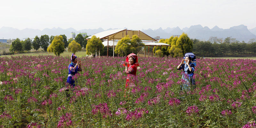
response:
[[[139,57],[129,89],[121,57],[78,57],[66,86],[69,58],[0,58],[0,127],[256,127],[256,60],[199,58],[180,91],[181,58]]]

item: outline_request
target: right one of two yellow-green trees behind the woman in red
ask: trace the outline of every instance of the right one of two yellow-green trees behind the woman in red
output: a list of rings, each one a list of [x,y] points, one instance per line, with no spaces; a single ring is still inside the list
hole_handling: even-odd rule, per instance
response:
[[[133,35],[131,40],[131,52],[137,54],[142,49],[143,46],[145,46],[145,44],[142,43],[139,36]]]

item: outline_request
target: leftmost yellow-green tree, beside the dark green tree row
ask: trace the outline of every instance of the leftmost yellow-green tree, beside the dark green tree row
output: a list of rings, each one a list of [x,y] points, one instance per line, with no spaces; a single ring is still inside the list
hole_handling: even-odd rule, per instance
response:
[[[49,53],[54,53],[56,56],[60,56],[65,50],[65,44],[63,42],[62,36],[55,36],[52,40],[51,45],[47,48]]]

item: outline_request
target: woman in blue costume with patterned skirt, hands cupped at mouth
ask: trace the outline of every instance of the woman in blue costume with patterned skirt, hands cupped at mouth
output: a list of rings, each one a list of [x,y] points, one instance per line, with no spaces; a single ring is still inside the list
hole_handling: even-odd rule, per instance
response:
[[[183,59],[181,60],[180,65],[178,65],[177,67],[178,70],[183,69],[181,79],[184,81],[184,83],[181,84],[181,90],[182,89],[190,90],[191,87],[195,88],[195,79],[193,78],[195,66],[196,66],[196,56],[193,53],[186,53]]]

